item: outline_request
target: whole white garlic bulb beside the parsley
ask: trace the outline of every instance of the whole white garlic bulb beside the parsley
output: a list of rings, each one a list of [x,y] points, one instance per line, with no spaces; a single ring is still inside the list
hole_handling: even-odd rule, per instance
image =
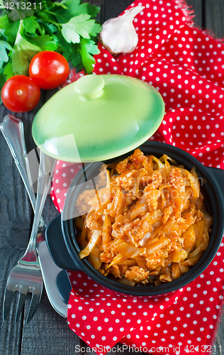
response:
[[[145,6],[136,6],[122,16],[110,18],[102,25],[100,40],[104,47],[113,55],[131,53],[138,45],[138,35],[133,20]]]

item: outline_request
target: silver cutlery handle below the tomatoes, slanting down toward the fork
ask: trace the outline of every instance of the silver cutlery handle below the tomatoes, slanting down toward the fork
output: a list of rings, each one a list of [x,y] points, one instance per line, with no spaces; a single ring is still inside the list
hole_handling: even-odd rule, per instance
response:
[[[28,196],[30,197],[33,210],[35,211],[35,193],[31,187],[32,182],[25,146],[23,122],[12,114],[8,114],[1,122],[0,129],[8,143],[13,159],[23,179],[26,191],[28,192]]]

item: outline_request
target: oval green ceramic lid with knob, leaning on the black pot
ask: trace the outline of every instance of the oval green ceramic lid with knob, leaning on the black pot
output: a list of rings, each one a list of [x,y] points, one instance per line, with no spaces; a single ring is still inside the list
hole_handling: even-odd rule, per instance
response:
[[[164,102],[155,87],[125,75],[85,75],[43,105],[32,132],[47,155],[86,163],[137,148],[163,116]]]

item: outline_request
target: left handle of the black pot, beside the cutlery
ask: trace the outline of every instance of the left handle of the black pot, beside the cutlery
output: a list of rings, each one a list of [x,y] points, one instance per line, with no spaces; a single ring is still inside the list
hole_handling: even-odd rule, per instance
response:
[[[48,224],[45,231],[45,239],[50,255],[59,268],[69,271],[81,270],[67,250],[62,234],[61,215]]]

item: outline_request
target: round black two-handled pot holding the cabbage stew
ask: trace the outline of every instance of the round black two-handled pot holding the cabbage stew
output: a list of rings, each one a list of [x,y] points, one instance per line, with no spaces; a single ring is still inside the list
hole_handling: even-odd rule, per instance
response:
[[[155,155],[157,158],[160,158],[165,153],[170,158],[176,160],[179,165],[184,165],[184,168],[187,170],[191,170],[194,166],[198,178],[203,181],[201,189],[205,196],[208,212],[213,216],[213,226],[206,251],[204,251],[201,259],[188,273],[181,275],[180,278],[173,280],[171,283],[164,283],[158,286],[138,285],[132,287],[122,285],[116,280],[111,280],[101,275],[99,271],[96,271],[91,266],[87,258],[83,258],[82,260],[79,258],[80,249],[76,241],[76,229],[74,225],[75,204],[80,192],[86,189],[88,181],[94,180],[94,177],[99,174],[101,163],[86,164],[84,165],[84,172],[79,171],[77,173],[72,181],[72,185],[69,187],[62,214],[47,227],[46,240],[51,256],[60,268],[70,271],[84,271],[90,278],[116,293],[154,297],[174,292],[197,278],[211,263],[215,253],[218,251],[224,230],[224,170],[205,167],[189,153],[168,144],[147,141],[139,148],[143,153]],[[125,157],[128,155],[130,154],[125,154]]]

